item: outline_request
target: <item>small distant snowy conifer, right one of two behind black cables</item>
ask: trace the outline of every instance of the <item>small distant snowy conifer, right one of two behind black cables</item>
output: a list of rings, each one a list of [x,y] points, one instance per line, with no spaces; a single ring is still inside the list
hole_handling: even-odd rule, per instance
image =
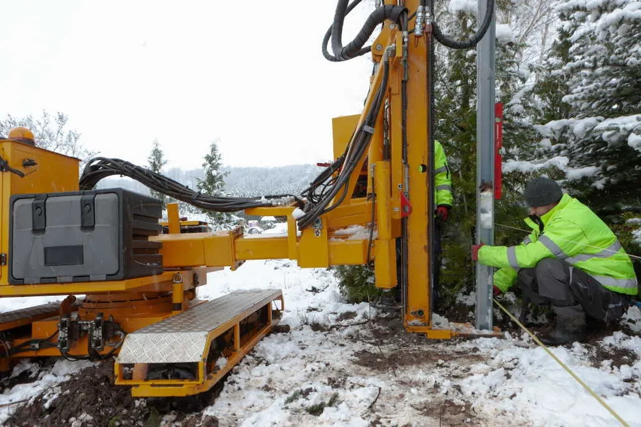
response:
[[[217,141],[213,141],[209,153],[204,156],[203,174],[204,179],[197,180],[197,188],[201,193],[208,195],[226,195],[224,193],[225,177],[227,172],[222,172],[222,156],[218,151]],[[231,228],[231,214],[224,212],[213,212],[201,209],[210,220],[213,229]]]

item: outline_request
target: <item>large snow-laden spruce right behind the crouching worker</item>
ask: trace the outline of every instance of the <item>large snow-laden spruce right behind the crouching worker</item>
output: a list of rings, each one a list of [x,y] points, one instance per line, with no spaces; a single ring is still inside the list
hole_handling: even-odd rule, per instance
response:
[[[628,252],[641,252],[641,3],[556,5],[561,26],[537,85],[537,127],[556,179],[590,205]],[[635,233],[638,234],[635,240]],[[641,265],[635,262],[637,271]]]

